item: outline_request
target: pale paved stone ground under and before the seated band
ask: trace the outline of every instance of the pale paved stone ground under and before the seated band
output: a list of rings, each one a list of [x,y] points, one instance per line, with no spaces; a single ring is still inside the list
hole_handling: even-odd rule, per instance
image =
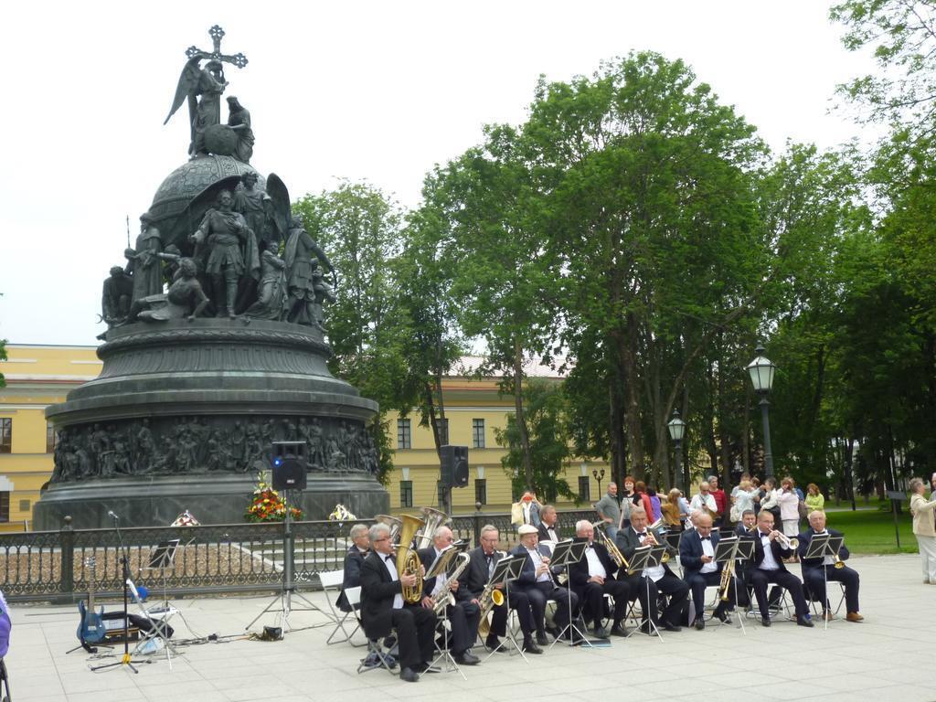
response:
[[[7,666],[15,702],[133,702],[172,700],[393,700],[462,702],[518,698],[517,684],[530,682],[541,700],[596,700],[609,695],[631,699],[751,702],[760,699],[933,700],[932,651],[936,626],[932,612],[936,587],[922,584],[919,557],[856,557],[861,574],[865,622],[837,620],[825,631],[792,622],[765,629],[754,620],[745,633],[735,627],[683,630],[664,640],[635,636],[612,639],[610,648],[581,650],[556,646],[529,665],[519,656],[498,655],[483,665],[456,672],[424,675],[405,683],[384,670],[358,675],[362,649],[326,646],[329,629],[294,631],[279,642],[237,638],[183,646],[169,669],[164,654],[145,658],[139,675],[126,668],[94,673],[84,651],[74,646],[75,607],[27,607],[13,610],[12,646]],[[833,591],[834,592],[834,591]],[[313,601],[321,601],[314,593]],[[240,636],[269,598],[178,600],[177,638],[215,633]],[[108,604],[108,610],[115,609]],[[294,612],[295,628],[320,622],[310,612]],[[263,623],[275,624],[269,614]],[[475,650],[477,651],[477,650]],[[626,691],[617,690],[628,680]]]

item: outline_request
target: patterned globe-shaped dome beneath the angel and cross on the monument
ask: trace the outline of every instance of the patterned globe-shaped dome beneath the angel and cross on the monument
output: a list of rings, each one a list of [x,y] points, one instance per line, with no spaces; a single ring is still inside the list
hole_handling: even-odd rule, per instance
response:
[[[168,231],[175,224],[176,217],[184,212],[188,204],[214,183],[231,176],[241,176],[253,172],[257,176],[257,187],[266,186],[266,179],[249,164],[242,163],[233,156],[200,155],[168,174],[165,181],[156,189],[150,214],[160,231]]]

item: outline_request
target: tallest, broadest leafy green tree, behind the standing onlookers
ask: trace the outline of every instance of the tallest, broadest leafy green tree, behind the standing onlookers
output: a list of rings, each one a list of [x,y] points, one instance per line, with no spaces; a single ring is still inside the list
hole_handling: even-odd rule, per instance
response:
[[[641,52],[541,80],[523,125],[562,273],[563,341],[608,387],[616,478],[668,471],[665,424],[700,355],[757,301],[766,149],[681,61]],[[604,400],[603,400],[604,402]],[[623,431],[620,430],[623,427]]]

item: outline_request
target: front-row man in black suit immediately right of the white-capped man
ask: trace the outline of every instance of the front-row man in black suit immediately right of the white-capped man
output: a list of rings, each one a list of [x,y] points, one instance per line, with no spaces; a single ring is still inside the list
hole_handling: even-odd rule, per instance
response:
[[[569,567],[572,592],[578,594],[586,621],[592,618],[594,635],[599,638],[607,638],[612,634],[627,636],[624,617],[627,615],[627,603],[636,598],[636,592],[632,593],[630,585],[615,575],[619,570],[618,565],[611,560],[603,544],[595,543],[591,521],[582,519],[576,524],[576,540],[584,540],[589,544],[585,549],[585,558]],[[605,618],[606,594],[614,598],[614,617],[610,631],[601,624]]]

